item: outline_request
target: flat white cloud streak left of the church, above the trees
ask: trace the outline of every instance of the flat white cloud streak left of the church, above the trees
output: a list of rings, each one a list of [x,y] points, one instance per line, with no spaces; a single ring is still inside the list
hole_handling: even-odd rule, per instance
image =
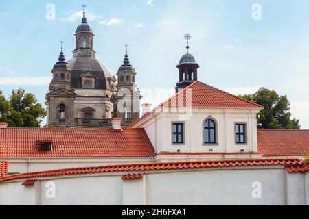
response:
[[[47,86],[52,77],[0,77],[3,86]]]

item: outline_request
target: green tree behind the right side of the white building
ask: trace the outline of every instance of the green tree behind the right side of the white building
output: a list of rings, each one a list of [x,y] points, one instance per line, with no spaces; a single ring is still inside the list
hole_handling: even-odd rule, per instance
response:
[[[279,96],[275,90],[260,88],[253,95],[240,95],[243,99],[264,106],[259,123],[263,129],[300,129],[299,120],[291,119],[290,102],[287,96]]]

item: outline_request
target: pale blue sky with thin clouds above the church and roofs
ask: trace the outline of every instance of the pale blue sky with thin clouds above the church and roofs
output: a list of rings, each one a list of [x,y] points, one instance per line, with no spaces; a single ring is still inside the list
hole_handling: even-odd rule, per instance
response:
[[[54,21],[46,19],[49,3],[56,9]],[[88,6],[98,60],[115,74],[128,43],[141,92],[174,91],[176,64],[186,52],[183,35],[190,33],[190,52],[201,66],[200,81],[233,94],[252,93],[259,86],[287,94],[293,116],[309,129],[305,0],[2,0],[0,90],[5,95],[21,87],[44,103],[61,40],[66,57],[72,55],[83,3]],[[252,18],[255,3],[262,7],[260,21]]]

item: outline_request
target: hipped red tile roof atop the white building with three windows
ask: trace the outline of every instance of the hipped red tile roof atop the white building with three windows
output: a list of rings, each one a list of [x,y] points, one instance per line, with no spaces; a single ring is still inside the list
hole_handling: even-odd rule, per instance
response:
[[[210,107],[210,108],[257,108],[262,105],[252,103],[238,96],[211,87],[200,81],[192,83],[178,94],[161,103],[160,107]]]

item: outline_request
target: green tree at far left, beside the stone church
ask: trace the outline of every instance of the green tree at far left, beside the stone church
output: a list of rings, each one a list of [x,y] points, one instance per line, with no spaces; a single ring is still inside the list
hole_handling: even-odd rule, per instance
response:
[[[1,111],[1,106],[3,111]],[[0,121],[7,122],[9,127],[40,127],[46,111],[38,103],[34,94],[26,93],[24,89],[12,90],[9,100],[0,96]]]

